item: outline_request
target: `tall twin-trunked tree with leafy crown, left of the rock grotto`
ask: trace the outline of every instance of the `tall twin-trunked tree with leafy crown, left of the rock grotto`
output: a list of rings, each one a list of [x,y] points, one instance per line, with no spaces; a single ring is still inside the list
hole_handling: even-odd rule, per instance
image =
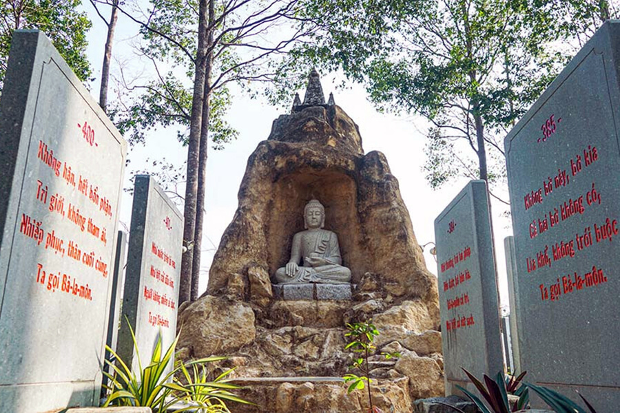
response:
[[[183,4],[153,0],[141,17],[118,8],[141,25],[142,52],[157,73],[155,81],[136,87],[144,93],[133,103],[114,110],[118,126],[130,132],[134,141],[143,141],[145,130],[154,125],[189,129],[189,134],[179,134],[188,145],[180,302],[198,296],[208,141],[220,145],[236,135],[224,120],[230,102],[228,85],[234,82],[252,94],[256,92],[248,85],[278,80],[273,61],[313,27],[291,25],[298,21],[299,4],[298,0]],[[162,64],[192,69],[191,90],[178,70],[162,74]]]

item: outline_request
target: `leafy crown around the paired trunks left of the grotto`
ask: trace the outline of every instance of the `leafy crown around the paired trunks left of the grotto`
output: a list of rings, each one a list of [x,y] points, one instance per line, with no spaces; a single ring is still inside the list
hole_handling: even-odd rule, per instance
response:
[[[214,0],[202,0],[209,3]],[[158,126],[176,127],[177,138],[187,144],[192,123],[192,97],[196,92],[194,70],[198,56],[198,0],[149,0],[143,14],[140,51],[150,60],[156,75],[146,85],[124,85],[127,93],[112,109],[111,117],[130,143],[144,143],[147,134]],[[256,96],[251,85],[278,81],[273,75],[274,61],[282,59],[289,43],[300,33],[278,31],[284,23],[297,21],[298,0],[248,2],[214,1],[214,19],[208,22],[212,34],[207,53],[213,61],[211,74],[204,85],[209,94],[209,140],[214,149],[223,149],[238,136],[227,123],[232,96],[229,85],[235,84],[246,96]],[[123,9],[123,12],[129,12]],[[138,14],[138,13],[131,13]],[[284,34],[282,34],[284,33]],[[279,40],[280,38],[289,39]],[[160,67],[170,69],[160,70]]]

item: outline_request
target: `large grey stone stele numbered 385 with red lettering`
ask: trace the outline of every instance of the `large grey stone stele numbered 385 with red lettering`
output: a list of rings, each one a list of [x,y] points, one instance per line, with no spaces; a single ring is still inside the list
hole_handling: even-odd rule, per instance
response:
[[[517,334],[528,380],[620,405],[620,21],[607,21],[506,136]],[[543,404],[533,399],[533,407]]]

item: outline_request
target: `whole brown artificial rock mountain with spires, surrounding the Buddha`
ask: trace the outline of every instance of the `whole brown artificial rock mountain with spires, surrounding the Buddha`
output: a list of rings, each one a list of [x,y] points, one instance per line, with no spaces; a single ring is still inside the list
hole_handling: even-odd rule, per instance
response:
[[[325,229],[338,234],[355,286],[352,300],[274,296],[270,276],[289,259],[292,236],[304,227],[304,205],[313,198],[325,207]],[[324,103],[316,72],[304,102],[296,96],[291,114],[276,119],[251,154],[238,200],[207,293],[182,306],[178,322],[181,357],[230,356],[227,366],[252,383],[243,395],[260,407],[236,405],[235,412],[364,407],[363,395],[347,395],[342,383],[280,377],[346,374],[351,354],[343,350],[344,325],[369,318],[381,333],[378,354],[401,353],[397,361],[373,357],[379,407],[406,412],[415,399],[443,394],[437,280],[426,270],[385,156],[364,154],[358,126],[333,96]]]

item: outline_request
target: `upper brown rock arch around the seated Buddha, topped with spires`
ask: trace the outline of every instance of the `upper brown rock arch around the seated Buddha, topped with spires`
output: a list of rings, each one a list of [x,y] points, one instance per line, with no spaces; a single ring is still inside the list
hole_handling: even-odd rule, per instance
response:
[[[304,230],[302,211],[316,198],[324,228],[338,235],[342,262],[357,284],[377,275],[393,297],[421,298],[437,307],[437,285],[415,240],[411,219],[384,155],[364,154],[353,120],[314,92],[291,114],[273,121],[269,138],[249,157],[239,207],[209,271],[207,293],[271,299],[270,275],[285,266],[293,235]]]

